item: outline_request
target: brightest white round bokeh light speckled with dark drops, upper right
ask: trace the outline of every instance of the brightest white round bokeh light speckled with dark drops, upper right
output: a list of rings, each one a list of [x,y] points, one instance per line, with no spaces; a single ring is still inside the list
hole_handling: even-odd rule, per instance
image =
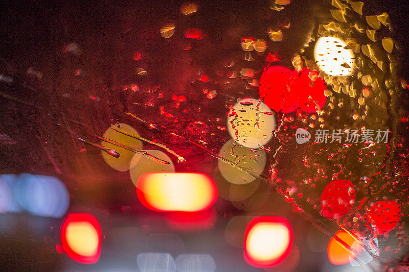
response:
[[[354,68],[354,53],[347,44],[335,37],[321,37],[314,47],[316,64],[327,75],[349,76]]]

